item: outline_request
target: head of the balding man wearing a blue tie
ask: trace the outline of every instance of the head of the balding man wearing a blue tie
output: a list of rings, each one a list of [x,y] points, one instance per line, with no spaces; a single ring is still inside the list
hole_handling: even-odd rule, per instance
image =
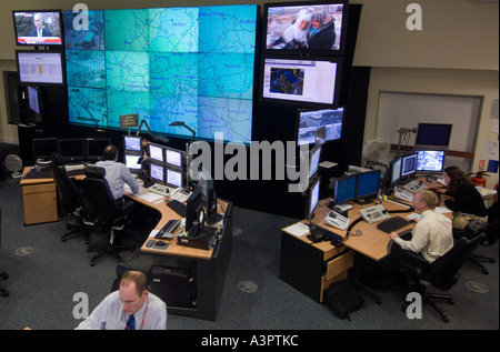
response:
[[[140,271],[129,270],[121,276],[119,291],[123,312],[133,314],[148,298],[148,278]]]

